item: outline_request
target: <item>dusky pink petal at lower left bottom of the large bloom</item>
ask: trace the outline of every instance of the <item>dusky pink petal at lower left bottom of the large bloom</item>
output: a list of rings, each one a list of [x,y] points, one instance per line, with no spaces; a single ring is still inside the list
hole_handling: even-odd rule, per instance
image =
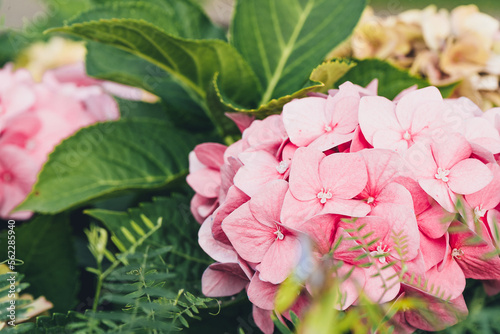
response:
[[[207,297],[227,297],[237,294],[248,283],[237,263],[214,263],[203,273],[201,289]]]

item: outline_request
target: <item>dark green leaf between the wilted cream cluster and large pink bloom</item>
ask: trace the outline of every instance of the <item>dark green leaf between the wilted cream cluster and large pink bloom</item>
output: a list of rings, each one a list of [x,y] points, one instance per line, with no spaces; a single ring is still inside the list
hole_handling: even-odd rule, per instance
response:
[[[407,71],[396,68],[391,64],[378,59],[354,60],[356,66],[346,75],[338,80],[338,84],[345,81],[351,81],[360,86],[368,85],[373,79],[378,79],[378,94],[388,99],[393,99],[402,90],[417,85],[418,88],[430,86],[429,82],[410,75]],[[438,87],[444,97],[448,97],[455,84]]]

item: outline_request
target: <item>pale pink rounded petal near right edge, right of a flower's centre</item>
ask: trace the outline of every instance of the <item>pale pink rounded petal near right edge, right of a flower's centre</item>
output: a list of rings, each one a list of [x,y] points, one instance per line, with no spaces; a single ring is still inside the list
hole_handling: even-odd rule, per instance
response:
[[[477,159],[465,159],[450,170],[448,186],[457,194],[469,195],[486,187],[493,173]]]

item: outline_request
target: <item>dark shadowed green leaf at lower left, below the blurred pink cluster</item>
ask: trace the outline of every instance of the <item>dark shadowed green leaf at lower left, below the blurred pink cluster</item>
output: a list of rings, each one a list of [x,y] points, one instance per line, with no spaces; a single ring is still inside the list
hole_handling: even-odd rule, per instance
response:
[[[72,308],[79,284],[68,215],[38,216],[15,232],[16,257],[24,261],[16,269],[30,283],[26,292],[45,296],[56,312]],[[6,238],[2,233],[2,245]]]

